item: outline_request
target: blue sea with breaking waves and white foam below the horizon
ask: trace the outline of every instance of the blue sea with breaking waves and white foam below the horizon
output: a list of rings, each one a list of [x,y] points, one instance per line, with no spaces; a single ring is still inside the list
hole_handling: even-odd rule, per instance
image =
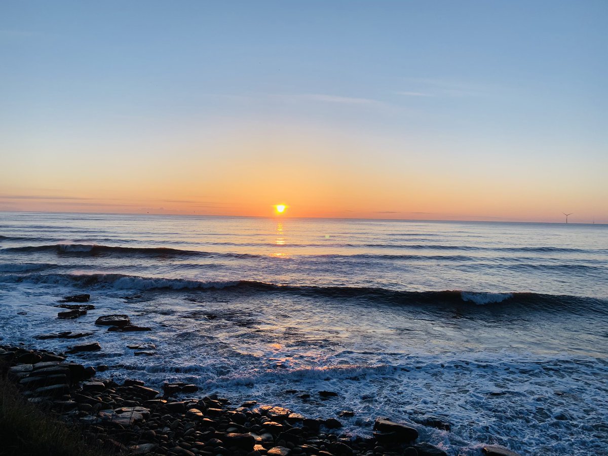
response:
[[[81,358],[117,381],[352,410],[353,435],[434,416],[452,455],[608,448],[608,226],[0,212],[0,310],[2,343],[93,331]],[[94,325],[112,313],[152,331]]]

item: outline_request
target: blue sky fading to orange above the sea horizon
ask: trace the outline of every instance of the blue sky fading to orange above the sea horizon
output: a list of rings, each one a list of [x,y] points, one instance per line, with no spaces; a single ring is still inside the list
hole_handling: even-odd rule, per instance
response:
[[[0,3],[0,210],[608,223],[608,1]]]

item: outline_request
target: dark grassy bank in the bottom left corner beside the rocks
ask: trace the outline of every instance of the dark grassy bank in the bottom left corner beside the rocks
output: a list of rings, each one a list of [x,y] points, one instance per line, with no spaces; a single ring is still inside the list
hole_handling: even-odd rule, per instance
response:
[[[0,454],[108,456],[109,453],[86,444],[78,429],[28,402],[15,384],[0,373]]]

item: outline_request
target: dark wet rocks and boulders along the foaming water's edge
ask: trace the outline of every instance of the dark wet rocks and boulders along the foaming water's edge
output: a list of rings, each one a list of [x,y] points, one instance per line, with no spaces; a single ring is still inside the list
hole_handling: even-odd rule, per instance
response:
[[[88,295],[66,297],[64,302],[87,302]],[[58,318],[77,318],[91,305],[61,304]],[[148,331],[126,315],[102,316],[97,325],[109,331]],[[78,339],[88,333],[42,334],[38,339]],[[98,342],[76,344],[67,354],[100,350]],[[70,362],[67,354],[0,345],[2,375],[18,385],[21,394],[41,410],[60,416],[81,429],[94,446],[117,454],[243,455],[243,456],[447,456],[440,448],[420,442],[415,425],[378,417],[373,437],[353,438],[340,432],[337,418],[311,418],[291,410],[247,401],[230,404],[210,395],[195,397],[193,384],[165,383],[162,391],[142,381],[117,384],[100,378],[97,370]],[[103,367],[103,368],[102,368]],[[320,392],[331,395],[333,392]],[[340,416],[348,415],[348,411]],[[440,420],[427,426],[449,429]],[[447,427],[446,427],[447,426]],[[488,445],[480,454],[517,456]]]

